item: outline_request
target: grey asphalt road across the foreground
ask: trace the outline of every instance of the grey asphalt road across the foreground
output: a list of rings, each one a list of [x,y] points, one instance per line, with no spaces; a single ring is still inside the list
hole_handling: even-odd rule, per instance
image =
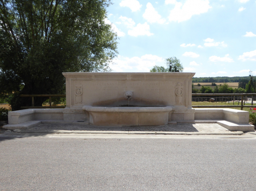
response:
[[[0,190],[255,191],[256,139],[0,137]]]

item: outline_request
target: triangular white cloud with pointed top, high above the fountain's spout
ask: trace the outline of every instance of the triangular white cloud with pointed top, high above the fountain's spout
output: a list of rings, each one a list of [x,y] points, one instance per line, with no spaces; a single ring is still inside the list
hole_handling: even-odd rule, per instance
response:
[[[165,19],[161,19],[161,15],[157,13],[157,11],[155,10],[155,8],[151,3],[147,4],[145,13],[142,16],[144,19],[146,19],[150,23],[163,24],[165,22]]]

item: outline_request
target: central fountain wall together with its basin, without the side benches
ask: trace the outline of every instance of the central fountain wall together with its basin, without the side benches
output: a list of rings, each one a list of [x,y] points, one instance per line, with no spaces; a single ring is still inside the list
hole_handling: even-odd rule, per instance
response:
[[[94,125],[166,125],[194,120],[195,73],[63,73],[64,119]],[[80,114],[79,114],[80,113]]]

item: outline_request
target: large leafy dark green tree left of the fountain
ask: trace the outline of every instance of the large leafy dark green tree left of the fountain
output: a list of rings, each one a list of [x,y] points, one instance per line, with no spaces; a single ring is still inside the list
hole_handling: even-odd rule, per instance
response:
[[[0,95],[63,94],[62,72],[109,71],[117,35],[105,23],[109,0],[0,0]],[[47,98],[37,97],[35,106]]]

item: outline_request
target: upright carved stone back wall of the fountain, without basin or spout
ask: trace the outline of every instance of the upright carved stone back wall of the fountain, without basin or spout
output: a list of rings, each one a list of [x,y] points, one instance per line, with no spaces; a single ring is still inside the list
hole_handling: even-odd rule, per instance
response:
[[[67,107],[64,120],[87,120],[83,106],[128,105],[125,96],[132,91],[130,105],[173,106],[168,120],[194,120],[191,106],[192,77],[195,73],[63,73],[66,78]]]

